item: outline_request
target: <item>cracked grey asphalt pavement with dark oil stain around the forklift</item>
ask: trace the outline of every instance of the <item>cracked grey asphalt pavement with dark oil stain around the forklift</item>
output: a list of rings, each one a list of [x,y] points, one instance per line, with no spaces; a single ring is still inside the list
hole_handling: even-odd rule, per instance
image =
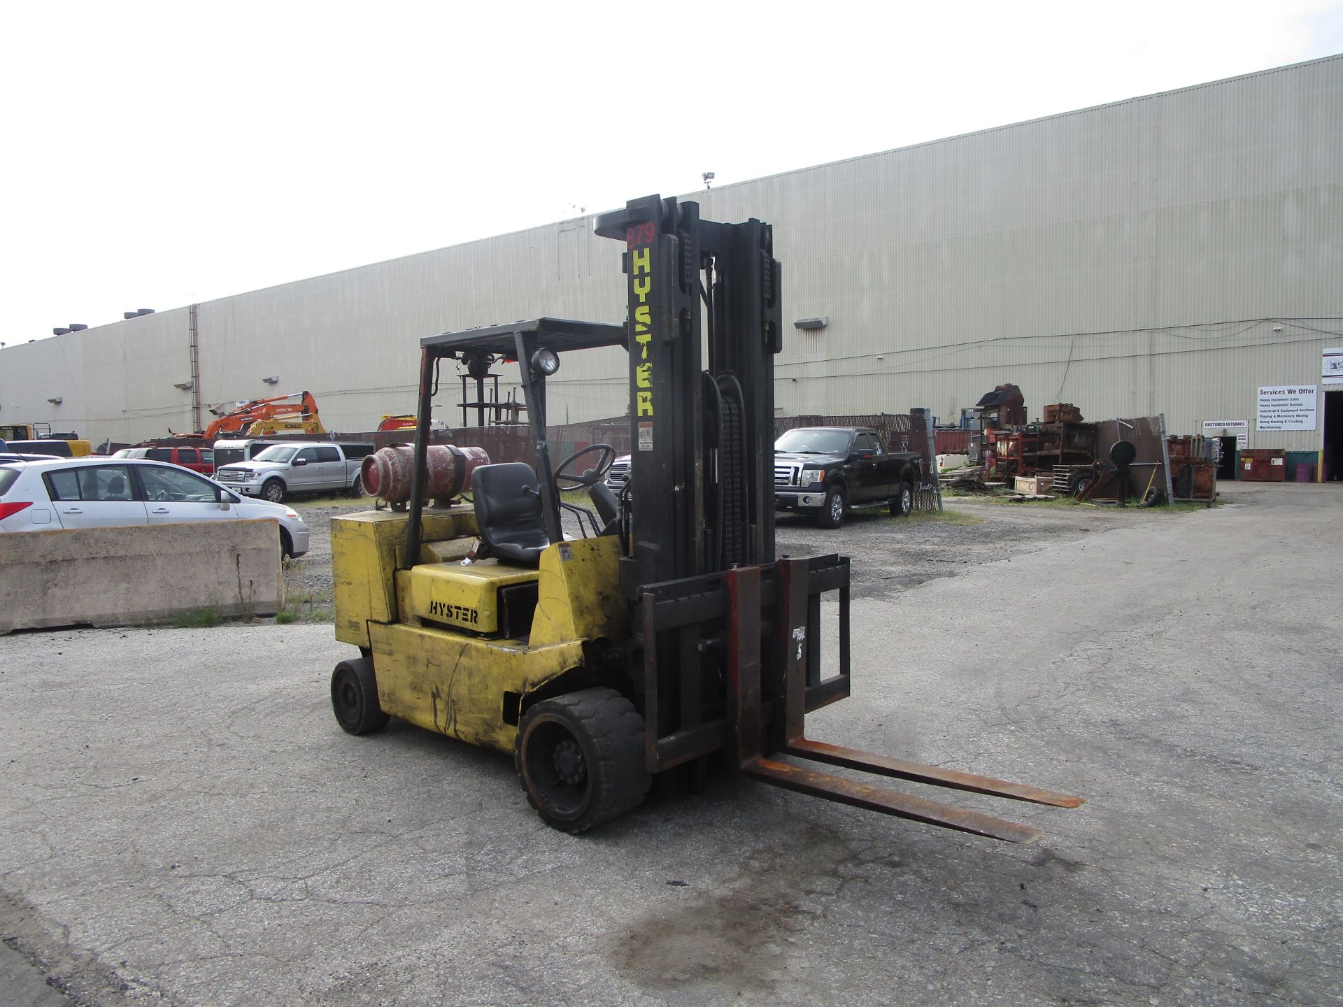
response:
[[[808,734],[1086,798],[924,794],[1034,846],[737,779],[567,836],[341,733],[326,624],[0,638],[0,998],[1340,1003],[1343,494],[1228,497],[854,600]]]

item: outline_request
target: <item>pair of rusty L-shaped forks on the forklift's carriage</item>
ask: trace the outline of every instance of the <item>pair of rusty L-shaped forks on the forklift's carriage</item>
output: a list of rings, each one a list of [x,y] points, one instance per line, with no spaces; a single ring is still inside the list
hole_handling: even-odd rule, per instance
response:
[[[881,776],[894,776],[933,787],[988,794],[997,798],[1026,800],[1035,804],[1074,808],[1081,798],[1068,794],[1027,787],[1019,783],[995,780],[988,776],[923,765],[902,759],[860,752],[853,748],[811,741],[804,734],[807,689],[807,657],[818,653],[807,640],[807,568],[806,560],[782,559],[776,561],[778,604],[776,651],[783,658],[778,677],[761,678],[761,596],[760,568],[739,567],[724,572],[728,595],[727,666],[729,697],[729,749],[732,763],[740,772],[775,787],[810,794],[842,804],[880,811],[886,815],[909,818],[916,822],[974,832],[1014,843],[1031,843],[1044,831],[1031,826],[1006,822],[976,811],[940,804],[909,794],[874,787],[807,767],[784,763],[764,755],[761,681],[774,690],[772,751],[778,755],[829,763],[847,769]],[[846,655],[843,655],[846,657]],[[782,716],[778,702],[782,700]]]

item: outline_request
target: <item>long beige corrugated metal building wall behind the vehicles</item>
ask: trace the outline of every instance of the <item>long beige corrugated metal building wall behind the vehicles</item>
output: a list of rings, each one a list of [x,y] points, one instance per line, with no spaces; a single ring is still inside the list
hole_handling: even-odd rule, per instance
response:
[[[783,414],[928,405],[955,422],[1013,381],[1031,416],[1064,400],[1089,419],[1164,412],[1172,432],[1238,419],[1252,447],[1320,447],[1322,350],[1343,345],[1343,56],[688,199],[709,219],[771,222],[784,318],[829,318],[788,332]],[[189,430],[195,346],[205,404],[306,388],[329,427],[367,430],[414,408],[424,334],[537,314],[619,321],[620,248],[591,227],[8,348],[0,423],[118,442]],[[1316,428],[1257,431],[1261,385],[1320,385]],[[565,361],[549,387],[552,422],[619,415],[623,356]],[[439,400],[454,426],[455,392]]]

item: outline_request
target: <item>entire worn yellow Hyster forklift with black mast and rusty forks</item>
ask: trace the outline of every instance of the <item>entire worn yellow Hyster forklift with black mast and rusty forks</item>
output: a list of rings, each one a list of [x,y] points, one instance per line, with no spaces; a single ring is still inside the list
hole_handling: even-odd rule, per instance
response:
[[[624,243],[623,325],[536,318],[422,340],[410,498],[332,521],[336,638],[360,650],[332,675],[336,720],[364,734],[402,717],[513,755],[528,800],[567,832],[630,811],[654,780],[694,791],[723,767],[935,826],[1038,839],[1029,826],[808,765],[1082,803],[806,737],[806,714],[850,691],[849,560],[775,556],[783,326],[772,228],[698,211],[647,196],[599,218],[596,232]],[[545,440],[547,377],[565,354],[603,346],[629,353],[633,465],[619,497],[603,482],[611,446],[552,466]],[[516,364],[535,446],[533,465],[475,467],[470,504],[465,455],[428,444],[443,361],[478,383]],[[564,501],[565,489],[587,490],[591,508]],[[565,512],[579,534],[565,537]],[[837,654],[823,661],[826,627]]]

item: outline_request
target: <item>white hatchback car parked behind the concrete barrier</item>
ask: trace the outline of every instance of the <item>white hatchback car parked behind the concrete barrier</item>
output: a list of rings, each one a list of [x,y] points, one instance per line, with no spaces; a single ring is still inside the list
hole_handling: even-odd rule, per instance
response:
[[[0,532],[117,528],[273,517],[286,556],[308,552],[293,508],[246,499],[187,469],[136,458],[0,462]]]

